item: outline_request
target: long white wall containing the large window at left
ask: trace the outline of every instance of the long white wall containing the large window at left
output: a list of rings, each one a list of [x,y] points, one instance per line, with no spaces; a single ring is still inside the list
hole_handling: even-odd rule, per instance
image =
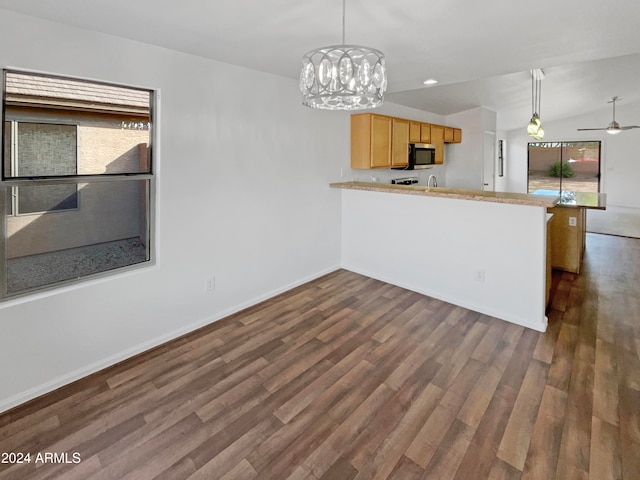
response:
[[[161,95],[157,265],[0,305],[0,411],[338,267],[348,113],[303,107],[295,80],[0,12],[0,65]]]

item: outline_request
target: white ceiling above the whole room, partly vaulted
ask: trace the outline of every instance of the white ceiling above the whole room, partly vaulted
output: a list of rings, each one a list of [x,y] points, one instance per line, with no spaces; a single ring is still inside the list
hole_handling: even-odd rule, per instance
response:
[[[342,43],[341,0],[0,0],[0,8],[297,78],[307,51]],[[0,12],[1,14],[1,12]],[[640,101],[640,2],[347,0],[346,43],[382,50],[386,99],[450,115],[477,106],[498,128]],[[435,87],[422,81],[437,78]],[[603,126],[610,121],[603,118]],[[634,120],[636,123],[640,119]]]

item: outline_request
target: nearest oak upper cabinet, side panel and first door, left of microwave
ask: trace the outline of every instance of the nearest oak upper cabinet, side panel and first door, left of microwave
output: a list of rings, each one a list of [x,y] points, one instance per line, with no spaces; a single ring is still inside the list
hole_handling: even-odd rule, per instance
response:
[[[391,167],[392,120],[373,113],[351,115],[351,168]]]

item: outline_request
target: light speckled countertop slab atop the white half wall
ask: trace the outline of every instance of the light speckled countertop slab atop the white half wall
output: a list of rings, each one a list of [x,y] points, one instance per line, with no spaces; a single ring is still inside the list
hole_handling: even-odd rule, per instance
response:
[[[398,193],[405,195],[422,195],[426,197],[446,197],[480,202],[511,203],[515,205],[532,205],[538,207],[554,207],[559,197],[527,193],[485,192],[483,190],[465,190],[459,188],[425,187],[424,185],[392,185],[372,182],[332,183],[331,188],[347,190],[365,190],[371,192]]]

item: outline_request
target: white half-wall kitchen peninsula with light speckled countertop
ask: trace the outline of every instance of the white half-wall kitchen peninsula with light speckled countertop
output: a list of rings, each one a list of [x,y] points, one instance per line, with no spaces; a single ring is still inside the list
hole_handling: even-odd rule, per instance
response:
[[[558,197],[366,182],[342,195],[342,266],[544,331]]]

